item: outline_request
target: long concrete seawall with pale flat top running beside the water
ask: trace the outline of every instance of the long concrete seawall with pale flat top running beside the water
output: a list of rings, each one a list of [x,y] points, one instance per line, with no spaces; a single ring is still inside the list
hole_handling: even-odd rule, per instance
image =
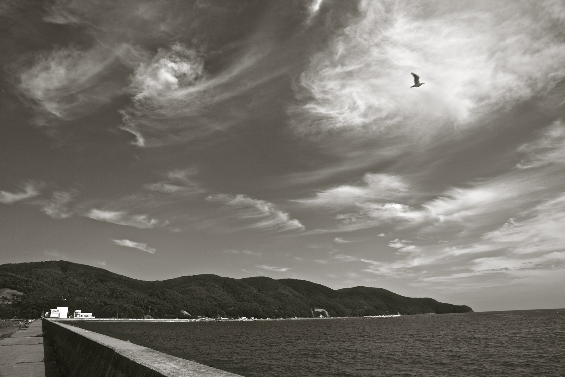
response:
[[[68,324],[43,325],[68,377],[241,377]]]

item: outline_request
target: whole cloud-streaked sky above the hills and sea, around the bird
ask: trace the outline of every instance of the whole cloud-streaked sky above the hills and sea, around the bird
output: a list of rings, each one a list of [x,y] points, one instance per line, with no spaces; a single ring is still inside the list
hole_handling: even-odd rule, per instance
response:
[[[563,30],[560,0],[2,0],[0,263],[565,307]]]

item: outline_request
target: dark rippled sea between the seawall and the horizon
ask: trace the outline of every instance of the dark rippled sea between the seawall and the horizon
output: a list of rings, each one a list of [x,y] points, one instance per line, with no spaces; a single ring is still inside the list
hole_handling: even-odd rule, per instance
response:
[[[73,324],[246,377],[565,377],[565,309]]]

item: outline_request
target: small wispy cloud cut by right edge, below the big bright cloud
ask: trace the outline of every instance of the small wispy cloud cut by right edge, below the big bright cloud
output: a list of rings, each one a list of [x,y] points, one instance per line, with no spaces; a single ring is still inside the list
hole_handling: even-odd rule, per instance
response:
[[[517,165],[520,169],[565,164],[565,123],[556,120],[538,140],[520,146],[518,151],[526,155]]]

